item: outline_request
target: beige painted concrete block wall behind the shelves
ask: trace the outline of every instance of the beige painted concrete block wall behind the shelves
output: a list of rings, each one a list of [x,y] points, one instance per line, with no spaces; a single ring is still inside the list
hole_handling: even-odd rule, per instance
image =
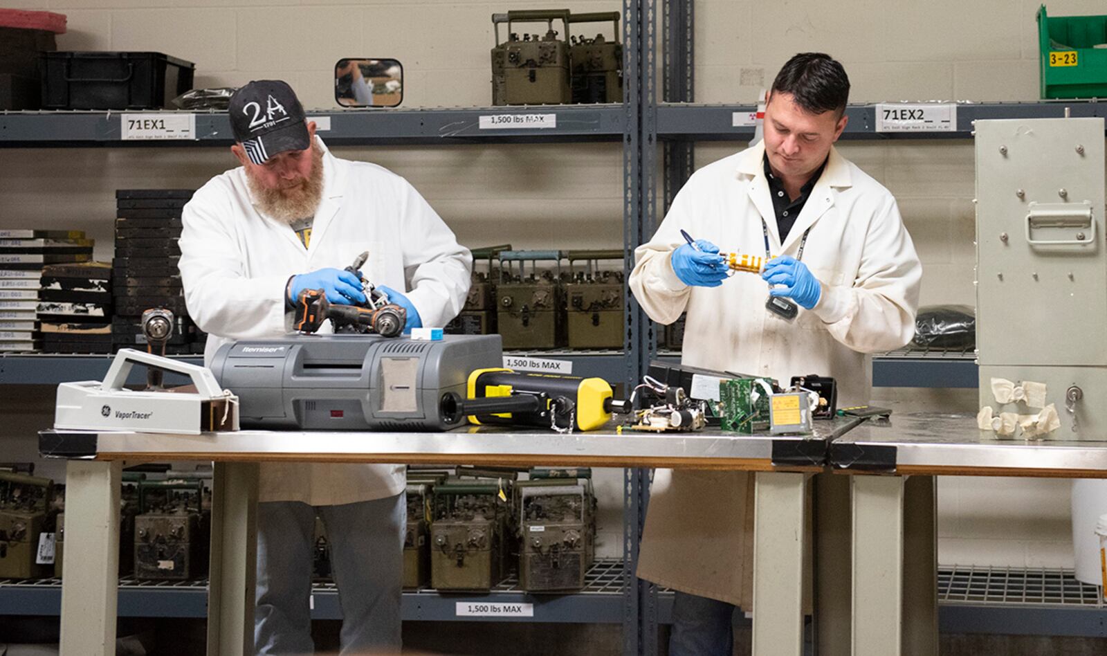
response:
[[[696,100],[753,102],[788,57],[809,50],[842,61],[853,102],[1034,100],[1038,3],[696,0]],[[70,31],[58,39],[63,50],[162,51],[196,62],[197,86],[281,78],[306,106],[334,109],[331,70],[342,57],[401,59],[405,106],[486,105],[492,12],[555,6],[601,11],[620,3],[21,0],[20,6],[69,17]],[[1101,0],[1054,0],[1049,12],[1092,14],[1104,8]],[[600,29],[608,28],[587,28],[588,33]],[[701,144],[697,163],[741,147]],[[972,144],[846,143],[841,150],[898,197],[924,265],[923,303],[971,305]],[[615,144],[342,147],[337,153],[406,176],[470,246],[621,243],[622,157]],[[0,150],[0,226],[85,229],[99,242],[99,257],[107,258],[114,189],[198,186],[234,164],[224,148]],[[898,411],[975,407],[973,391],[876,393]],[[27,417],[19,422],[32,423]],[[621,481],[615,472],[604,481],[603,503],[618,509]],[[939,490],[942,562],[1070,565],[1067,483],[950,478]],[[620,530],[618,510],[604,525],[609,532]],[[618,553],[618,536],[607,543],[610,553]]]

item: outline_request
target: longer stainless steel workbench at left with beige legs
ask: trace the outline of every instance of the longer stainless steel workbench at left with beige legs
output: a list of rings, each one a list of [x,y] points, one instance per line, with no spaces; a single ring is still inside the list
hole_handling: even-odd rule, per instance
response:
[[[686,468],[753,471],[754,653],[803,653],[806,486],[835,438],[857,420],[818,422],[808,437],[618,431],[588,433],[489,427],[449,432],[237,431],[200,435],[43,431],[40,452],[68,458],[66,576],[62,652],[114,653],[122,461],[214,461],[208,654],[251,654],[258,464],[405,462],[499,465]],[[71,555],[72,554],[72,555]],[[74,558],[72,566],[69,558]]]

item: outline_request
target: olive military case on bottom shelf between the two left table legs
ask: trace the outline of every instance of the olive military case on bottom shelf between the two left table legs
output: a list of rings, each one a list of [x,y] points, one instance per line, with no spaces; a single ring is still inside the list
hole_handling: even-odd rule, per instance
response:
[[[207,574],[210,510],[203,481],[138,483],[135,578],[186,581]]]

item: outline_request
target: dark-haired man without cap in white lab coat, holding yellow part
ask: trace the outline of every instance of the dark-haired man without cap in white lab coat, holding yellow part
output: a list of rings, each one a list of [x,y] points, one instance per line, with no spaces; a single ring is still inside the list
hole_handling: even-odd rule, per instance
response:
[[[896,198],[834,148],[848,95],[841,64],[795,55],[773,82],[764,141],[696,171],[635,252],[630,286],[650,318],[686,312],[685,365],[832,376],[839,404],[855,406],[869,400],[866,353],[914,335],[922,268]],[[764,273],[727,278],[720,248],[764,255]],[[677,591],[673,656],[730,656],[735,606],[757,612],[751,480],[656,472],[638,574]]]

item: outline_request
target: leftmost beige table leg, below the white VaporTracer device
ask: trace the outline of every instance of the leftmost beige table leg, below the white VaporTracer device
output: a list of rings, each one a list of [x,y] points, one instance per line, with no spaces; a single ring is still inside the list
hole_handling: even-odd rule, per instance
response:
[[[123,463],[65,463],[61,653],[114,656]]]

